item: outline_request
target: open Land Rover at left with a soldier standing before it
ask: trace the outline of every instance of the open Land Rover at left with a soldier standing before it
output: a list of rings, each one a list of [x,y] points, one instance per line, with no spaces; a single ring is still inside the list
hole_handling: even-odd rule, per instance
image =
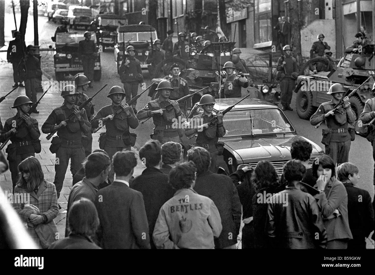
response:
[[[74,76],[82,73],[82,61],[78,56],[78,44],[84,40],[83,34],[77,33],[57,33],[56,45],[54,53],[54,66],[56,80],[65,80],[67,75]],[[94,42],[95,41],[94,36]],[[102,67],[100,64],[100,52],[95,61],[94,80],[99,81],[102,75]]]

